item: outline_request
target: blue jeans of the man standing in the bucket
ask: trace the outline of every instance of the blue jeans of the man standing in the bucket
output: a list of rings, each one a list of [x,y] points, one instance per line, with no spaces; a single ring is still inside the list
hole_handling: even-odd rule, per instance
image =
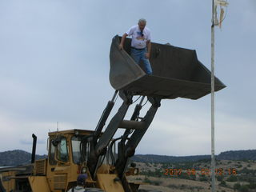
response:
[[[146,48],[143,50],[135,50],[133,48],[131,48],[130,50],[130,56],[134,59],[134,61],[139,64],[139,61],[142,60],[145,70],[146,70],[146,74],[152,74],[152,69],[150,66],[150,60],[148,58],[146,58]]]

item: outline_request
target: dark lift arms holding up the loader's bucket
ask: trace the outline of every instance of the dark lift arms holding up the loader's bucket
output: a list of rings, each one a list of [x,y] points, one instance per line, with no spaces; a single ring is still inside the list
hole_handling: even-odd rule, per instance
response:
[[[133,95],[126,90],[120,90],[119,95],[123,100],[122,106],[120,106],[118,112],[114,114],[114,117],[110,120],[106,130],[101,135],[100,133],[102,132],[102,128],[105,125],[106,119],[113,106],[111,105],[112,107],[110,108],[106,106],[106,109],[102,113],[102,117],[105,118],[100,118],[94,135],[90,140],[90,157],[88,159],[87,166],[90,170],[90,174],[95,178],[100,163],[100,156],[106,154],[107,146],[110,144],[118,128],[124,128],[124,134],[120,138],[121,141],[118,143],[118,159],[114,162],[114,166],[118,177],[122,181],[122,186],[124,186],[125,191],[132,191],[130,190],[128,182],[124,178],[129,158],[134,155],[138,143],[141,141],[143,135],[150,126],[150,123],[153,121],[154,115],[160,106],[161,98],[148,97],[151,103],[150,109],[143,118],[139,118],[140,110],[142,109],[142,102],[145,98],[145,96],[142,96],[139,104],[135,106],[134,113],[130,120],[124,120],[129,106],[133,103]],[[115,98],[115,96],[113,98]],[[112,104],[114,105],[114,102]],[[141,119],[141,121],[138,121],[139,119]]]

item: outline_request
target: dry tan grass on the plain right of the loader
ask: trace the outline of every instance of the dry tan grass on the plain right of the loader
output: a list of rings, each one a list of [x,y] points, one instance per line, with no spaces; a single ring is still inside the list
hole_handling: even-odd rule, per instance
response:
[[[162,168],[161,163],[143,163],[137,162],[137,167],[142,171],[155,171],[161,170],[163,175],[165,170]],[[206,162],[195,162],[194,166],[202,167],[202,168],[209,168],[210,163]],[[225,170],[225,174],[223,175],[224,178],[229,177],[229,169],[235,169],[237,174],[244,168],[249,170],[256,170],[256,162],[255,161],[228,161],[228,160],[221,160],[218,161],[216,168]],[[166,167],[171,168],[171,167]],[[175,167],[178,169],[178,167]],[[192,167],[191,167],[192,168]],[[200,174],[199,171],[197,174]],[[199,175],[197,175],[197,178]],[[142,190],[156,190],[162,192],[210,192],[210,180],[209,182],[200,182],[194,181],[189,179],[182,179],[182,178],[171,178],[166,176],[162,178],[154,178],[154,177],[146,177],[144,175],[138,176],[130,176],[129,180],[131,182],[144,182],[143,185],[140,186],[139,189]],[[150,181],[149,183],[145,183],[145,181]],[[225,179],[226,180],[226,179]],[[226,191],[226,192],[234,192],[233,186],[236,182],[226,182],[226,185],[229,187],[222,187],[219,186],[220,182],[216,181],[216,191]],[[241,184],[247,184],[246,182],[240,182]]]

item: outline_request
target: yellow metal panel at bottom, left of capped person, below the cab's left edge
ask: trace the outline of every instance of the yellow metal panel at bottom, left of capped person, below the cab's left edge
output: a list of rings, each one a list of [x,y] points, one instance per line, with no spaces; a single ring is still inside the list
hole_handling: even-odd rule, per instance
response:
[[[29,181],[33,192],[50,192],[45,176],[30,176]]]

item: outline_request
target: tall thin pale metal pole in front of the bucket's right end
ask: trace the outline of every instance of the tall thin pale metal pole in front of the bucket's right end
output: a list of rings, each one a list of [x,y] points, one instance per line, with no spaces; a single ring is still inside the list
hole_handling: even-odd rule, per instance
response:
[[[211,191],[215,192],[215,155],[214,155],[214,0],[212,0],[211,25]]]

